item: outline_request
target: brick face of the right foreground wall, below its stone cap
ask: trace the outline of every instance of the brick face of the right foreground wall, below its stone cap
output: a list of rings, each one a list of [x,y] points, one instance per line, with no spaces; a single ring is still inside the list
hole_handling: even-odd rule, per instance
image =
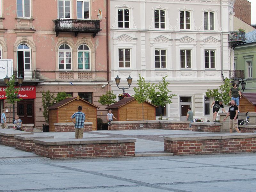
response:
[[[173,155],[256,152],[256,138],[212,140],[164,140],[164,150]]]

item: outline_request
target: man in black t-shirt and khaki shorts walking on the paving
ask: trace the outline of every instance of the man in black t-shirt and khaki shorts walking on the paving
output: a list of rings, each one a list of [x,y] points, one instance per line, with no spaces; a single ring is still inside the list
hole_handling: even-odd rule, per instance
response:
[[[240,133],[238,129],[238,107],[235,105],[235,100],[231,100],[231,107],[228,109],[228,114],[224,118],[224,121],[226,121],[227,117],[230,114],[230,120],[229,120],[229,132],[233,133],[233,129],[235,128],[238,133]]]

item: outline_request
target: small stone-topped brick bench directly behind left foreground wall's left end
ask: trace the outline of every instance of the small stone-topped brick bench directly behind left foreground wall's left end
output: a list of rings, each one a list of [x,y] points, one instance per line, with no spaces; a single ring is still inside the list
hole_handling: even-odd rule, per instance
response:
[[[51,139],[53,136],[43,135],[43,134],[33,134],[33,135],[14,135],[16,140],[16,148],[23,151],[35,151],[34,139]]]

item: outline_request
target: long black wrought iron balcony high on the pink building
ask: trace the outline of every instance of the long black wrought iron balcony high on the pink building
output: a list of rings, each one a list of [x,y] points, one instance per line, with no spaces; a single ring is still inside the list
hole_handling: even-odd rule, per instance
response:
[[[56,36],[60,32],[93,33],[93,37],[101,30],[100,20],[57,19],[55,23]]]

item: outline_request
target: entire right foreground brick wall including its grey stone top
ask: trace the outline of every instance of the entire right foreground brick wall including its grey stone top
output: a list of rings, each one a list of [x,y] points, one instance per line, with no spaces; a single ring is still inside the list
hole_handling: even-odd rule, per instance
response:
[[[256,133],[164,136],[164,150],[174,155],[256,152]]]

